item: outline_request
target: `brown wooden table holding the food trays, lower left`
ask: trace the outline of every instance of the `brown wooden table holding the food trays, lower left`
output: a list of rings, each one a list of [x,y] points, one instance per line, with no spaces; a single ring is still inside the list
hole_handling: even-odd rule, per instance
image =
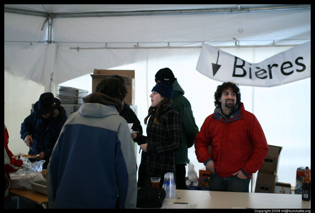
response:
[[[47,209],[46,204],[48,203],[48,196],[34,190],[26,189],[10,189],[12,195],[17,196],[18,198],[18,209],[23,208],[25,200],[30,200],[31,202],[43,206],[44,209]],[[22,200],[20,200],[22,198]]]

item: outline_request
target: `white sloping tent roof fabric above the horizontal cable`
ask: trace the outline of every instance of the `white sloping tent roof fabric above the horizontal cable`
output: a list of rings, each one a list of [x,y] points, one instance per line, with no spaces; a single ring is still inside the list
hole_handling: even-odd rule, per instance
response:
[[[41,13],[128,12],[150,10],[237,8],[237,4],[5,4],[5,8]],[[241,4],[242,7],[272,5]],[[277,5],[274,5],[277,6]],[[6,41],[47,41],[46,17],[4,13]],[[26,18],[27,17],[27,18]],[[294,20],[294,21],[289,21]],[[53,18],[52,41],[70,47],[139,47],[297,45],[310,40],[311,9],[257,13],[181,14]],[[235,40],[233,40],[235,38]],[[273,42],[274,41],[274,42]],[[162,43],[161,43],[162,42]],[[115,44],[111,44],[115,43]],[[118,44],[119,43],[119,44]],[[123,44],[122,44],[123,43]],[[129,43],[129,44],[128,44]],[[161,44],[158,44],[161,43]]]

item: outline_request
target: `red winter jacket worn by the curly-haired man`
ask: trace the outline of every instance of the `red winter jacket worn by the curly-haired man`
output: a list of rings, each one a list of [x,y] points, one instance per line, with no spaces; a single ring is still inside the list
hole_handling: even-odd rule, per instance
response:
[[[195,153],[198,162],[214,160],[216,173],[229,177],[238,170],[248,178],[262,165],[268,152],[265,134],[254,114],[244,109],[232,112],[229,119],[216,108],[208,116],[195,138]],[[211,155],[208,147],[211,145]]]

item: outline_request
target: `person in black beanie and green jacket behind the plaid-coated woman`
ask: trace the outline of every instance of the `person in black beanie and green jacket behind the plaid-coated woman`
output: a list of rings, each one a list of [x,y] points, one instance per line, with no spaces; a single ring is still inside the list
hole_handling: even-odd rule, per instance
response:
[[[172,70],[169,68],[163,68],[157,71],[155,74],[155,82],[169,82],[173,85],[173,98],[172,102],[176,111],[180,114],[182,120],[181,132],[182,132],[182,146],[180,151],[175,152],[175,166],[176,166],[176,188],[186,188],[186,168],[185,165],[189,163],[188,148],[194,145],[194,139],[198,134],[198,126],[195,123],[195,118],[192,114],[192,107],[189,101],[184,96],[184,90],[180,87],[175,78]]]

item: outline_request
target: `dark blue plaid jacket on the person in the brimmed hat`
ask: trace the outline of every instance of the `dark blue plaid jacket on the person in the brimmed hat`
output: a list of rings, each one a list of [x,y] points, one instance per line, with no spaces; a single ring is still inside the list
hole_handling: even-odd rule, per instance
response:
[[[59,114],[45,128],[43,125],[43,116],[32,112],[21,125],[21,138],[24,140],[26,135],[31,135],[34,146],[31,146],[35,153],[30,149],[28,154],[44,153],[45,169],[49,163],[49,158],[53,151],[54,145],[59,137],[60,131],[67,120],[65,109],[60,106]]]

